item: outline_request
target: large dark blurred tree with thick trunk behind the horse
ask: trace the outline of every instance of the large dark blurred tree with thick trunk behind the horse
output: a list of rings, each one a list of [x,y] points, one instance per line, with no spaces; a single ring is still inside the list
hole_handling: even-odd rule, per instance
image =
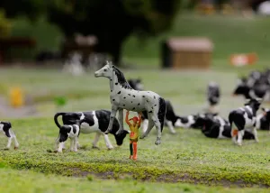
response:
[[[115,63],[121,60],[123,41],[135,32],[148,37],[165,32],[181,7],[182,0],[1,0],[7,17],[26,15],[32,21],[47,14],[67,39],[75,33],[98,38],[96,50],[108,52]]]

